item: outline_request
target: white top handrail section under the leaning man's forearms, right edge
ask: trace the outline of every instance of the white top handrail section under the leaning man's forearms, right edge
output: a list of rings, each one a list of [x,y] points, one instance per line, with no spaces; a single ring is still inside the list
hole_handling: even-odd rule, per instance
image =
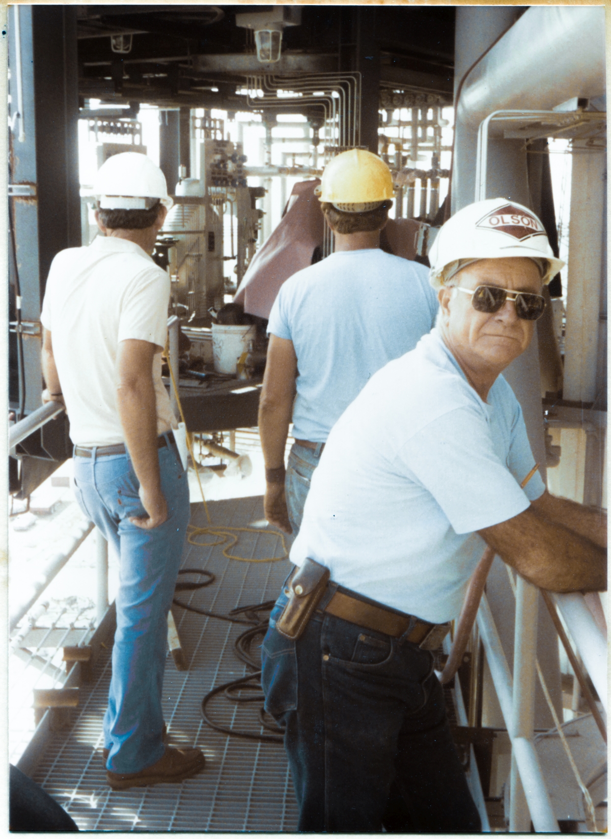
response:
[[[552,594],[551,597],[556,601],[562,619],[567,624],[606,713],[607,639],[598,628],[582,594],[575,591],[572,594]]]

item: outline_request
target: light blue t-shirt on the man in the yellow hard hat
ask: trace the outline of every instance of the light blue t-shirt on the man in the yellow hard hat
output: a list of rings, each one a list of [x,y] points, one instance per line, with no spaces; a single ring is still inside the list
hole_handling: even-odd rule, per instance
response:
[[[279,290],[268,332],[293,341],[293,435],[324,443],[368,379],[413,349],[437,313],[428,269],[379,248],[332,253]]]

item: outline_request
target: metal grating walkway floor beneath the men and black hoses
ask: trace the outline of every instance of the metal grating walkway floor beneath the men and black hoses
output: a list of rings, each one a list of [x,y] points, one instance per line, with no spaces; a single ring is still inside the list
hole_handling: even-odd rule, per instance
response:
[[[263,521],[262,498],[217,501],[208,507],[216,526],[258,530],[237,533],[238,544],[229,553],[251,560],[282,555],[277,531],[267,529]],[[191,524],[206,526],[202,504],[191,505]],[[210,535],[198,538],[216,540]],[[227,560],[222,555],[226,545],[186,545],[182,567],[205,568],[216,580],[198,591],[181,591],[178,597],[222,614],[273,600],[289,571],[289,560]],[[282,746],[227,737],[201,719],[201,699],[208,690],[250,672],[232,649],[245,627],[179,608],[174,613],[189,670],[176,670],[168,655],[164,718],[170,743],[202,748],[204,772],[182,784],[118,792],[107,786],[101,749],[111,675],[108,650],[98,657],[91,683],[81,687],[73,726],[50,735],[34,780],[86,831],[295,831],[297,805]],[[209,709],[221,725],[263,731],[253,706],[215,697]]]

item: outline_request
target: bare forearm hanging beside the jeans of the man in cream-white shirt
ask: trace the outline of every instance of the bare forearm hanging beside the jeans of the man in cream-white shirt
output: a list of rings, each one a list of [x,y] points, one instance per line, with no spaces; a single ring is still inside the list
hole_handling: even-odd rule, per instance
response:
[[[149,492],[160,491],[157,405],[153,378],[139,378],[119,384],[117,407],[125,444],[138,481]]]

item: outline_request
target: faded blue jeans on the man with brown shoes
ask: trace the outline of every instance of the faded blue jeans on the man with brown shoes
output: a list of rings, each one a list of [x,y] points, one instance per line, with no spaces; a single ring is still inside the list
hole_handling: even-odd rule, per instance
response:
[[[165,435],[170,443],[172,436]],[[159,449],[168,519],[152,530],[131,524],[145,516],[138,478],[127,454],[74,458],[76,499],[119,557],[117,631],[104,716],[107,769],[139,772],[164,754],[161,711],[167,616],[190,518],[189,486],[174,443]]]

